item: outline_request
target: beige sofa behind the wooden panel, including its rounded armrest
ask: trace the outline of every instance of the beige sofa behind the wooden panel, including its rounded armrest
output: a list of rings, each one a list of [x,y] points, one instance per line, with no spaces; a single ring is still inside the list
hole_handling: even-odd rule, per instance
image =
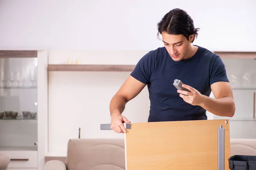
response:
[[[256,156],[256,139],[230,139],[231,156]],[[125,170],[124,139],[72,139],[67,162],[47,161],[43,170]]]

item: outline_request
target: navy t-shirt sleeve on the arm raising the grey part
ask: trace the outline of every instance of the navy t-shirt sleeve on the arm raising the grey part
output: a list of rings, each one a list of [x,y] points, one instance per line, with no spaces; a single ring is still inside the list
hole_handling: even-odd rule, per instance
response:
[[[210,85],[215,82],[229,82],[227,78],[227,72],[221,57],[218,55],[212,60],[210,66]]]

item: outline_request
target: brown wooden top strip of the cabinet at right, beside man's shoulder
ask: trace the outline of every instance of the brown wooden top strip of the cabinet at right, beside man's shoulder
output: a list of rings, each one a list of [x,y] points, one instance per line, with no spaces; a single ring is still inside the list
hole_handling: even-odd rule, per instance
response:
[[[228,51],[214,51],[215,54],[221,58],[230,59],[256,59],[256,52],[228,52]]]

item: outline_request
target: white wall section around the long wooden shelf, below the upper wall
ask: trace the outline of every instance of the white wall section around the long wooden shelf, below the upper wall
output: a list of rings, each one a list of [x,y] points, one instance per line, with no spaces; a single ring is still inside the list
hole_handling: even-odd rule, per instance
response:
[[[64,63],[68,57],[73,60],[91,56],[91,64],[105,64],[113,61],[122,63],[120,55],[139,59],[143,51],[50,51],[49,63]],[[95,57],[95,58],[94,58]],[[88,59],[89,57],[87,57]],[[86,59],[86,58],[85,58]],[[111,60],[108,60],[111,59]],[[84,63],[84,62],[83,62]],[[88,62],[86,62],[88,63]],[[109,63],[110,64],[110,63]],[[78,138],[123,138],[123,134],[111,130],[100,130],[100,124],[110,123],[109,103],[131,72],[49,72],[49,151],[50,154],[66,154],[67,141]],[[149,113],[147,88],[128,102],[123,113],[131,122],[147,122]],[[64,151],[64,152],[63,152]],[[57,152],[57,153],[56,153]]]

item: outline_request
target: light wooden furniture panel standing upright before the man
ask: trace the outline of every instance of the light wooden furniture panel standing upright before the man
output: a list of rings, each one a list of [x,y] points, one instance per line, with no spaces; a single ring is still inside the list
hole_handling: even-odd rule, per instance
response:
[[[125,133],[126,170],[218,170],[220,125],[225,128],[227,170],[228,119],[131,123]]]

